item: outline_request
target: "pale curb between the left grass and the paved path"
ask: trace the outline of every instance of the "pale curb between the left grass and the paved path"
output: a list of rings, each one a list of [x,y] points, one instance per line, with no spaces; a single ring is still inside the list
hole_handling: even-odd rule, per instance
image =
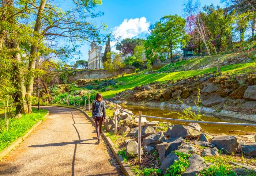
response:
[[[47,110],[46,110],[47,111]],[[46,119],[49,115],[49,111],[47,111],[47,113],[44,116],[44,119]],[[9,152],[12,151],[12,149],[16,148],[16,146],[18,146],[22,141],[24,141],[26,139],[26,137],[28,137],[30,135],[30,133],[32,133],[32,131],[35,130],[35,128],[40,125],[42,123],[42,120],[39,120],[35,125],[33,125],[29,131],[27,131],[27,133],[25,135],[23,135],[22,137],[19,137],[18,139],[16,139],[14,142],[12,142],[8,147],[4,148],[1,152],[0,152],[0,160],[2,158],[4,158]]]

